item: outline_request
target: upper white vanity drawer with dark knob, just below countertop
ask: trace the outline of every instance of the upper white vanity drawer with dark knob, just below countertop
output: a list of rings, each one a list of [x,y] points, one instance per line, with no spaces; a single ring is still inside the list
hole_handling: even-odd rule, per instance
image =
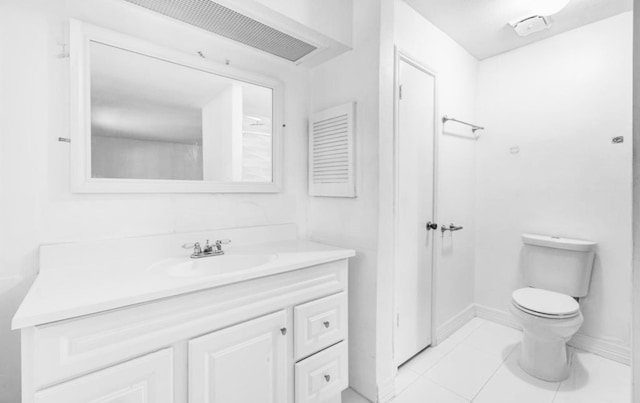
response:
[[[296,361],[346,339],[347,309],[344,292],[295,307]]]

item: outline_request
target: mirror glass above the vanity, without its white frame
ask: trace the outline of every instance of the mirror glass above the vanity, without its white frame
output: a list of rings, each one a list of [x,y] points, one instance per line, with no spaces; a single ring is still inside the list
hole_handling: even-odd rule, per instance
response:
[[[273,90],[91,42],[91,177],[271,182]]]

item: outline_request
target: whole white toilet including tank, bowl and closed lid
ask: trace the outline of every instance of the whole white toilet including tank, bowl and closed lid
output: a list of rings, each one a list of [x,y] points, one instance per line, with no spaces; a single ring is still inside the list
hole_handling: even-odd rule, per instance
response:
[[[582,325],[576,298],[589,290],[595,242],[523,234],[524,281],[511,312],[522,324],[520,367],[536,378],[569,376],[567,342]]]

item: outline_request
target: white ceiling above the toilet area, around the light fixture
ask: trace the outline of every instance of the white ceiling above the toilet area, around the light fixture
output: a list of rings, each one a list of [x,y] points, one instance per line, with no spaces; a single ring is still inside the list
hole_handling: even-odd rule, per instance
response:
[[[405,0],[478,60],[633,9],[633,0],[571,0],[551,29],[518,36],[509,22],[532,15],[535,0]]]

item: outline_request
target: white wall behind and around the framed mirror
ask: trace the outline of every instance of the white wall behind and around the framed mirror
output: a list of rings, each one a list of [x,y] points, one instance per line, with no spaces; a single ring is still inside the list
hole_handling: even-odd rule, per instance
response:
[[[60,58],[69,15],[152,39],[285,83],[285,177],[276,195],[72,195],[69,59]],[[0,3],[0,400],[19,401],[19,333],[9,322],[38,268],[42,243],[100,240],[294,222],[306,232],[308,72],[182,27],[126,2]]]

